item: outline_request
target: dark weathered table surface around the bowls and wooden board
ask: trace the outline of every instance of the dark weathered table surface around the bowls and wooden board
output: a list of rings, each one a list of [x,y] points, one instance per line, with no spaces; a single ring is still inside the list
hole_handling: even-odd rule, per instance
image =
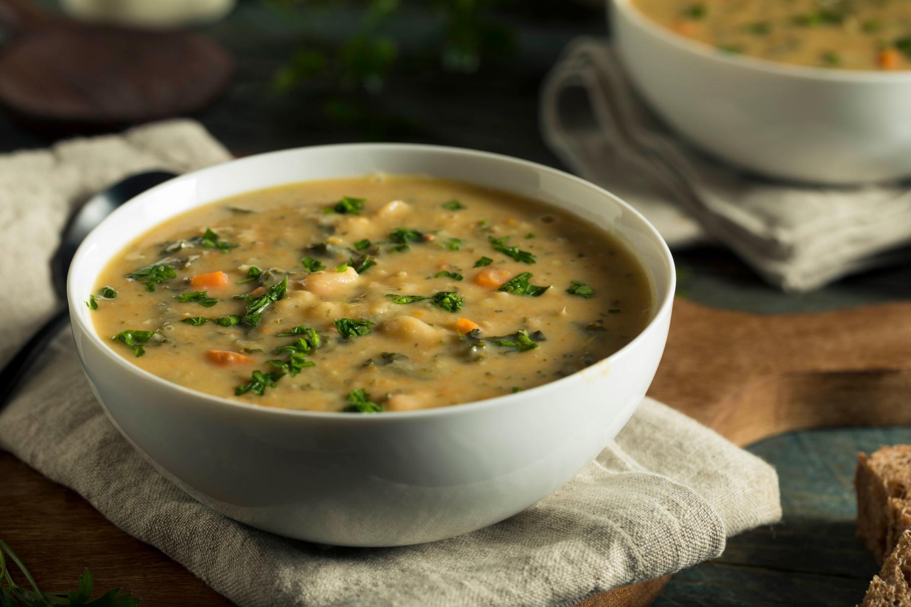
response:
[[[473,147],[561,167],[537,128],[538,90],[563,47],[578,35],[607,35],[597,3],[512,2],[497,15],[516,36],[515,52],[486,57],[470,75],[445,73],[425,48],[440,25],[425,10],[391,22],[404,41],[401,73],[376,95],[327,92],[302,83],[279,93],[276,72],[307,45],[332,46],[359,23],[354,7],[281,10],[248,0],[225,20],[200,28],[237,61],[214,106],[194,116],[233,153],[363,140]],[[356,111],[334,113],[330,101]],[[37,134],[0,113],[0,151],[45,147]],[[607,185],[609,187],[609,184]],[[756,312],[835,309],[911,297],[911,269],[886,268],[804,295],[763,283],[731,253],[714,247],[675,251],[682,297],[718,308]],[[837,330],[837,328],[834,328]],[[733,538],[717,561],[676,575],[657,605],[852,605],[877,571],[855,539],[851,478],[857,450],[911,442],[911,429],[816,430],[783,435],[750,450],[776,466],[784,521]]]

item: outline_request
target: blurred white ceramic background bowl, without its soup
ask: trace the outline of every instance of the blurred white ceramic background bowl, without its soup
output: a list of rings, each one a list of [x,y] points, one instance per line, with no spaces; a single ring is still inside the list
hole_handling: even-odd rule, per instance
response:
[[[612,0],[634,86],[670,126],[772,177],[847,185],[911,177],[911,71],[791,66],[725,55]]]

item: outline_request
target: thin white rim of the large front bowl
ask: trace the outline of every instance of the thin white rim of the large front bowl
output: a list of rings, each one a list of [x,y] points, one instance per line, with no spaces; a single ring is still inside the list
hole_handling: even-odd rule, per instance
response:
[[[507,164],[512,164],[514,166],[531,168],[531,169],[536,170],[538,173],[545,173],[545,174],[549,174],[554,177],[560,177],[563,179],[567,179],[571,182],[576,182],[577,184],[579,184],[583,187],[589,187],[590,189],[594,190],[600,196],[607,197],[614,204],[619,205],[619,207],[621,207],[624,210],[624,212],[628,212],[634,218],[637,218],[640,221],[641,226],[643,228],[645,228],[648,236],[650,236],[650,238],[654,239],[655,243],[657,244],[657,246],[660,250],[661,259],[664,263],[667,264],[667,267],[668,267],[668,276],[669,276],[668,282],[663,286],[658,285],[658,284],[653,284],[656,298],[660,297],[660,293],[662,290],[664,291],[663,303],[661,304],[661,306],[658,309],[653,310],[653,314],[652,314],[652,317],[651,317],[649,323],[645,326],[644,329],[642,329],[640,331],[640,333],[635,338],[631,339],[629,343],[627,343],[622,348],[620,348],[619,350],[617,350],[616,352],[611,354],[609,357],[600,359],[594,365],[586,367],[585,369],[579,369],[575,373],[572,373],[571,375],[568,375],[564,378],[550,381],[550,382],[542,384],[540,386],[536,386],[535,388],[529,388],[526,390],[522,390],[521,392],[517,392],[517,393],[513,393],[513,394],[506,394],[503,396],[494,397],[492,399],[474,400],[471,402],[466,402],[466,403],[462,403],[462,404],[458,404],[458,405],[452,405],[449,407],[435,407],[433,409],[412,410],[412,411],[394,411],[393,415],[352,415],[351,413],[347,413],[347,412],[343,412],[343,411],[314,411],[314,410],[285,409],[285,408],[280,408],[280,407],[264,407],[262,405],[258,405],[255,403],[248,403],[248,402],[244,402],[242,400],[233,400],[233,399],[229,399],[227,397],[221,397],[221,396],[216,396],[214,394],[209,394],[207,392],[202,392],[197,389],[187,388],[186,386],[181,386],[177,383],[169,381],[168,379],[161,378],[161,377],[149,372],[146,369],[142,369],[142,368],[138,367],[138,365],[133,364],[132,362],[128,361],[128,359],[125,359],[125,358],[119,356],[118,353],[115,352],[114,349],[112,349],[110,347],[110,344],[108,344],[105,339],[101,339],[101,336],[98,335],[97,331],[95,330],[95,327],[92,326],[92,323],[89,320],[87,320],[90,317],[83,318],[83,316],[76,313],[76,309],[80,309],[78,306],[81,305],[81,299],[80,299],[80,296],[76,293],[77,286],[75,284],[75,280],[73,277],[77,271],[77,268],[79,268],[83,258],[85,258],[87,256],[87,248],[88,248],[89,243],[93,240],[93,237],[97,234],[97,232],[99,230],[103,229],[106,226],[106,224],[111,221],[111,218],[115,217],[116,214],[118,214],[118,212],[121,211],[121,209],[127,208],[130,205],[136,204],[136,201],[140,200],[141,198],[154,197],[154,196],[156,196],[157,192],[160,189],[163,189],[165,187],[170,187],[172,184],[174,184],[175,182],[177,182],[179,180],[195,179],[196,177],[205,175],[206,173],[215,173],[217,171],[224,170],[224,167],[226,167],[226,166],[237,166],[239,164],[243,164],[243,163],[247,163],[247,162],[254,162],[257,159],[261,159],[262,157],[299,153],[302,150],[319,151],[322,149],[330,149],[330,148],[333,148],[335,150],[341,149],[343,151],[344,151],[344,148],[350,148],[352,151],[368,150],[368,151],[374,151],[377,153],[383,153],[383,152],[394,153],[397,151],[423,151],[423,152],[427,152],[427,153],[441,153],[441,152],[442,153],[455,153],[456,155],[459,155],[459,156],[481,157],[481,158],[485,158],[486,160],[491,161],[491,162],[507,163]],[[354,177],[354,176],[352,176],[352,177]],[[343,178],[343,177],[339,177],[339,178]],[[307,180],[309,180],[309,179],[307,179]],[[306,181],[306,180],[304,180],[304,181]],[[294,183],[294,182],[288,181],[287,183]],[[466,181],[466,183],[471,183],[471,182]],[[235,195],[239,195],[239,194],[242,194],[245,192],[253,192],[253,191],[256,191],[257,189],[262,189],[262,188],[261,187],[251,187],[251,189],[239,191]],[[508,192],[509,190],[504,189],[503,191]],[[234,195],[230,195],[230,196],[234,196]],[[215,202],[215,201],[213,200],[212,202]],[[208,204],[208,203],[206,203],[206,204]],[[200,205],[200,206],[202,206],[202,205]],[[183,209],[179,213],[174,213],[173,215],[170,215],[169,218],[177,217],[180,213],[186,212],[188,210],[190,210],[190,209]],[[571,211],[568,211],[568,212],[571,213]],[[167,218],[162,219],[161,221],[166,221],[166,220],[167,220]],[[161,221],[159,221],[159,224],[161,223]],[[158,224],[156,224],[156,225],[158,225]],[[146,228],[145,230],[140,230],[133,238],[137,238],[139,235],[141,235],[145,231],[148,231],[148,228]],[[627,245],[627,246],[629,247],[629,245]],[[114,253],[114,255],[117,255],[120,252],[120,250],[122,250],[122,248],[119,248]],[[641,264],[643,264],[643,266],[648,267],[641,260],[640,255],[637,253],[637,251],[630,248],[630,252],[633,254],[634,258],[637,258],[637,260]],[[113,258],[113,256],[108,256],[106,258],[106,260],[104,261],[104,265],[107,265],[107,263],[110,261],[111,258]],[[104,352],[104,356],[106,356],[107,359],[112,360],[113,363],[118,366],[118,368],[124,369],[124,371],[127,374],[137,376],[137,379],[145,379],[145,380],[152,381],[153,383],[156,383],[159,386],[161,386],[163,389],[176,390],[177,392],[179,392],[183,395],[186,395],[187,397],[189,397],[191,399],[205,401],[206,403],[212,404],[212,405],[229,406],[229,407],[239,408],[241,410],[249,410],[249,411],[251,411],[251,414],[254,414],[254,415],[282,415],[282,416],[312,418],[314,420],[351,420],[352,422],[354,422],[354,421],[363,422],[363,420],[372,420],[371,423],[383,423],[384,420],[386,422],[393,422],[394,420],[415,420],[415,418],[435,417],[435,416],[441,416],[441,415],[442,416],[468,415],[472,411],[486,410],[486,409],[491,409],[491,408],[495,408],[498,406],[508,406],[510,403],[517,403],[518,401],[521,401],[521,400],[527,398],[527,395],[531,394],[532,392],[536,393],[537,395],[541,395],[542,392],[558,390],[566,382],[568,382],[568,380],[578,379],[581,374],[586,373],[587,371],[589,371],[589,369],[593,369],[600,365],[609,365],[611,361],[628,355],[632,349],[635,349],[640,343],[645,341],[647,339],[647,336],[650,336],[650,334],[654,333],[655,331],[660,330],[659,326],[662,324],[661,321],[663,319],[665,319],[666,317],[670,316],[670,310],[673,306],[673,298],[674,298],[673,296],[674,296],[674,291],[676,289],[676,285],[677,285],[677,278],[676,278],[676,271],[675,271],[673,257],[670,254],[670,248],[668,248],[668,245],[664,241],[664,238],[661,237],[660,233],[658,232],[658,229],[655,228],[654,226],[652,226],[650,221],[648,219],[646,219],[645,217],[643,217],[642,214],[638,210],[631,207],[629,203],[625,202],[620,197],[618,197],[614,194],[611,194],[608,190],[604,189],[603,187],[599,187],[585,179],[582,179],[581,177],[576,177],[574,175],[567,173],[566,171],[561,171],[557,168],[548,167],[546,165],[542,165],[537,162],[532,162],[530,160],[523,160],[520,158],[510,157],[510,156],[506,156],[503,154],[485,152],[485,151],[470,149],[470,148],[466,148],[466,147],[450,147],[450,146],[435,146],[435,145],[427,145],[427,144],[404,144],[404,143],[353,143],[353,144],[349,143],[349,144],[327,144],[327,145],[320,145],[320,146],[290,147],[290,148],[286,148],[286,149],[265,152],[262,154],[255,154],[255,155],[251,155],[248,157],[235,158],[235,159],[232,159],[232,160],[229,160],[226,162],[219,163],[217,165],[213,165],[211,167],[197,169],[195,171],[190,171],[188,173],[179,175],[178,177],[173,177],[172,179],[169,179],[168,181],[165,181],[165,182],[159,184],[158,186],[149,188],[148,190],[139,194],[137,197],[131,198],[126,203],[124,203],[123,205],[118,207],[118,209],[116,209],[113,213],[111,213],[111,215],[107,216],[107,218],[102,220],[101,223],[99,223],[94,229],[92,229],[92,231],[89,232],[87,237],[79,245],[79,248],[77,248],[76,254],[73,256],[73,261],[70,264],[69,271],[67,272],[67,300],[68,300],[67,303],[69,306],[70,322],[74,325],[77,325],[78,328],[80,329],[80,331],[82,332],[82,334],[87,335],[88,339],[91,339],[98,346],[98,348]],[[74,329],[75,329],[75,327],[74,327]],[[663,344],[662,344],[662,348],[663,348]],[[81,359],[81,357],[80,357],[80,359]],[[376,420],[376,421],[373,421],[373,420]]]

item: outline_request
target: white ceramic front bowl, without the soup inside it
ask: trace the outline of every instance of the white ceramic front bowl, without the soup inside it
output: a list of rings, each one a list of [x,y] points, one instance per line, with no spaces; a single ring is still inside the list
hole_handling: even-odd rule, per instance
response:
[[[375,171],[497,187],[565,208],[633,248],[654,288],[650,325],[570,377],[455,407],[379,415],[277,410],[203,394],[122,359],[82,301],[109,258],[185,210],[261,187]],[[118,208],[82,244],[67,285],[77,350],[110,420],[171,481],[266,531],[392,546],[474,531],[571,479],[630,419],[668,334],[670,252],[631,207],[578,177],[515,158],[411,145],[303,147],[189,173]]]

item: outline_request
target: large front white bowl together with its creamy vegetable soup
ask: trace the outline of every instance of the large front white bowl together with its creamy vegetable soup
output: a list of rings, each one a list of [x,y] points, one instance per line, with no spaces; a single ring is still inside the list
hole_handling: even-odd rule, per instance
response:
[[[673,288],[656,230],[578,177],[342,145],[143,193],[67,294],[98,400],[170,481],[265,531],[392,546],[502,521],[592,460]]]

